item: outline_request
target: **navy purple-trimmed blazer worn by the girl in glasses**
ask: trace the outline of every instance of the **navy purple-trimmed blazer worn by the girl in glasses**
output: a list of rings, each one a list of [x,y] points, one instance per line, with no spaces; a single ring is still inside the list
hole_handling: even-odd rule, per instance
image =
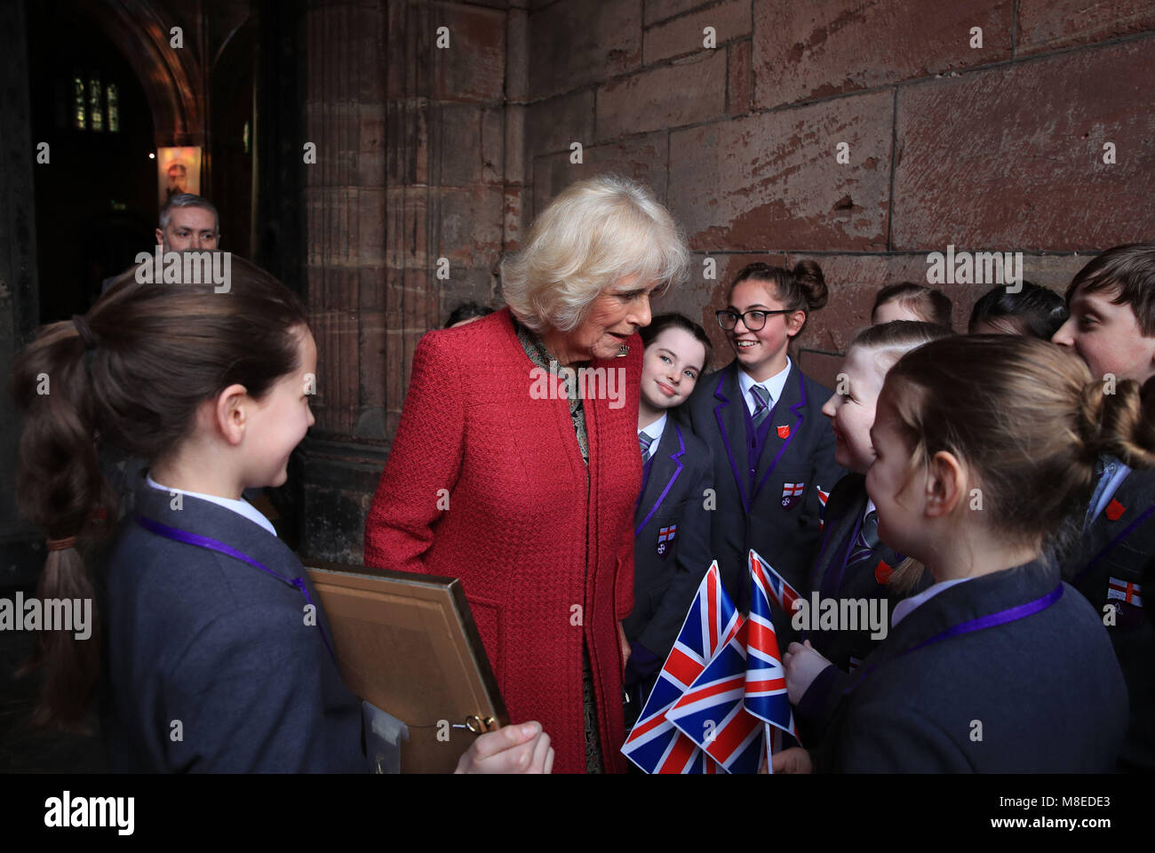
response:
[[[710,547],[726,593],[750,609],[747,552],[758,551],[799,592],[805,587],[819,544],[821,504],[818,487],[830,490],[845,472],[834,461],[834,432],[822,414],[830,391],[798,369],[790,372],[769,415],[770,429],[758,459],[753,490],[746,452],[748,408],[731,362],[698,381],[686,402],[694,432],[714,454],[717,509]],[[800,494],[792,492],[800,484]],[[778,645],[795,636],[787,614],[774,609]]]

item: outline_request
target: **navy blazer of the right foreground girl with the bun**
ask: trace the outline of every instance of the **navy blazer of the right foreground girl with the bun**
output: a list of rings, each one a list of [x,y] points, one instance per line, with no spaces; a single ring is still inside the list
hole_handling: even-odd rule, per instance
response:
[[[926,644],[1058,585],[1057,569],[1028,563],[952,586],[908,614],[854,675],[839,676],[815,769],[1110,771],[1126,730],[1127,690],[1098,614],[1075,589],[1064,584],[1043,610]]]

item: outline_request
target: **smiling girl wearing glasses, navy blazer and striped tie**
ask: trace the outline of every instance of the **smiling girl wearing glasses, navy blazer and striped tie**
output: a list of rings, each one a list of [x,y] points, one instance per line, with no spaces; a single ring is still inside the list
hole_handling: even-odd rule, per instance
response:
[[[792,270],[752,264],[735,277],[718,324],[735,359],[699,380],[686,415],[714,455],[717,509],[710,546],[726,593],[750,607],[747,554],[757,550],[800,589],[814,563],[821,504],[843,474],[822,417],[825,388],[787,353],[806,318],[826,304],[818,264]],[[780,643],[792,635],[776,614]]]

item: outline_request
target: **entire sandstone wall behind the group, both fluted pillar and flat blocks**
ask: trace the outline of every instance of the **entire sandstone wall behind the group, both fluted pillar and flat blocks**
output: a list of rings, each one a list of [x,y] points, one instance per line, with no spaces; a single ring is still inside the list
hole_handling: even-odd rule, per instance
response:
[[[314,556],[360,557],[417,341],[462,301],[500,304],[502,253],[579,178],[626,173],[669,206],[695,266],[655,310],[702,322],[718,364],[733,274],[818,260],[832,298],[797,355],[826,383],[929,252],[1022,251],[1061,289],[1089,253],[1155,239],[1142,0],[333,0],[305,27]],[[944,289],[961,328],[988,285]]]

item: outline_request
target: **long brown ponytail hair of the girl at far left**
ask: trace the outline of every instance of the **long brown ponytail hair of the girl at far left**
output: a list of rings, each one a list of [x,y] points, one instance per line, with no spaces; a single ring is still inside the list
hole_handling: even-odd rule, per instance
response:
[[[125,276],[84,317],[40,329],[17,357],[17,500],[49,540],[79,536],[81,547],[90,544],[104,533],[99,519],[117,517],[117,496],[100,473],[102,447],[151,461],[188,436],[203,401],[234,383],[260,400],[299,369],[295,329],[307,328],[300,302],[264,270],[239,258],[231,264],[228,292]],[[42,600],[94,598],[85,561],[66,544],[49,551]],[[44,675],[35,725],[80,724],[99,647],[98,630],[85,641],[66,631],[39,636],[25,668]]]

